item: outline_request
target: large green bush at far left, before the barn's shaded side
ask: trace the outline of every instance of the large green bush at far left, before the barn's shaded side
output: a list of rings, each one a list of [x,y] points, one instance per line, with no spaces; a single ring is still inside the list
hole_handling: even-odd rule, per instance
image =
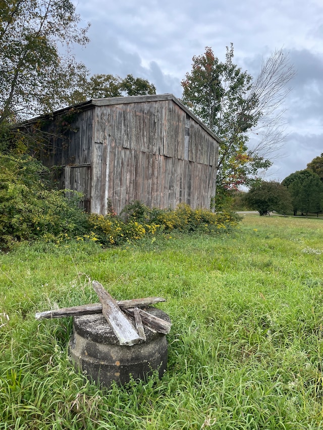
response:
[[[21,240],[64,233],[68,237],[88,229],[86,214],[79,209],[79,193],[46,189],[48,170],[31,156],[0,155],[0,248]]]

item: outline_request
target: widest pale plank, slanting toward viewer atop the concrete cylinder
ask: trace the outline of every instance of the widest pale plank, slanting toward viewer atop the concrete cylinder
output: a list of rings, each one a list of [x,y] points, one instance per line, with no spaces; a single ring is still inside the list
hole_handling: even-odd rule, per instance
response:
[[[119,308],[117,301],[97,282],[92,281],[92,288],[102,303],[102,314],[117,336],[120,345],[134,345],[140,342],[140,336],[133,325]]]

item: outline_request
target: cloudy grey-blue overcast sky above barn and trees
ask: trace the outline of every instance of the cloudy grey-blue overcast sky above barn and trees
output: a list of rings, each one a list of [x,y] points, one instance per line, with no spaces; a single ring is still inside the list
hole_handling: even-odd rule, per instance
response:
[[[74,0],[73,0],[74,1]],[[192,56],[205,46],[256,76],[275,49],[289,52],[296,76],[286,100],[284,158],[271,178],[282,180],[323,152],[323,0],[75,0],[85,26],[86,48],[76,58],[90,74],[148,79],[157,94],[181,97]],[[267,176],[269,178],[269,176]]]

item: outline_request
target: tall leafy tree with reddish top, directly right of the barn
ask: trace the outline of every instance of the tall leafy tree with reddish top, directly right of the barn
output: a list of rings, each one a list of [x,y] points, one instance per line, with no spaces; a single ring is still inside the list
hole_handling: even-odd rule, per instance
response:
[[[244,132],[256,123],[250,112],[257,100],[247,102],[252,78],[232,60],[232,45],[225,63],[206,47],[203,55],[193,57],[192,71],[182,81],[182,102],[222,139],[217,177],[222,188],[246,182],[250,160]]]

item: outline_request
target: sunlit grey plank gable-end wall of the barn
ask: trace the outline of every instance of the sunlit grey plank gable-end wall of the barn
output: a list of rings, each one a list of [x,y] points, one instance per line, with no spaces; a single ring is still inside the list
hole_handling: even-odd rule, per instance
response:
[[[209,207],[218,143],[173,100],[96,106],[94,124],[93,212]]]

